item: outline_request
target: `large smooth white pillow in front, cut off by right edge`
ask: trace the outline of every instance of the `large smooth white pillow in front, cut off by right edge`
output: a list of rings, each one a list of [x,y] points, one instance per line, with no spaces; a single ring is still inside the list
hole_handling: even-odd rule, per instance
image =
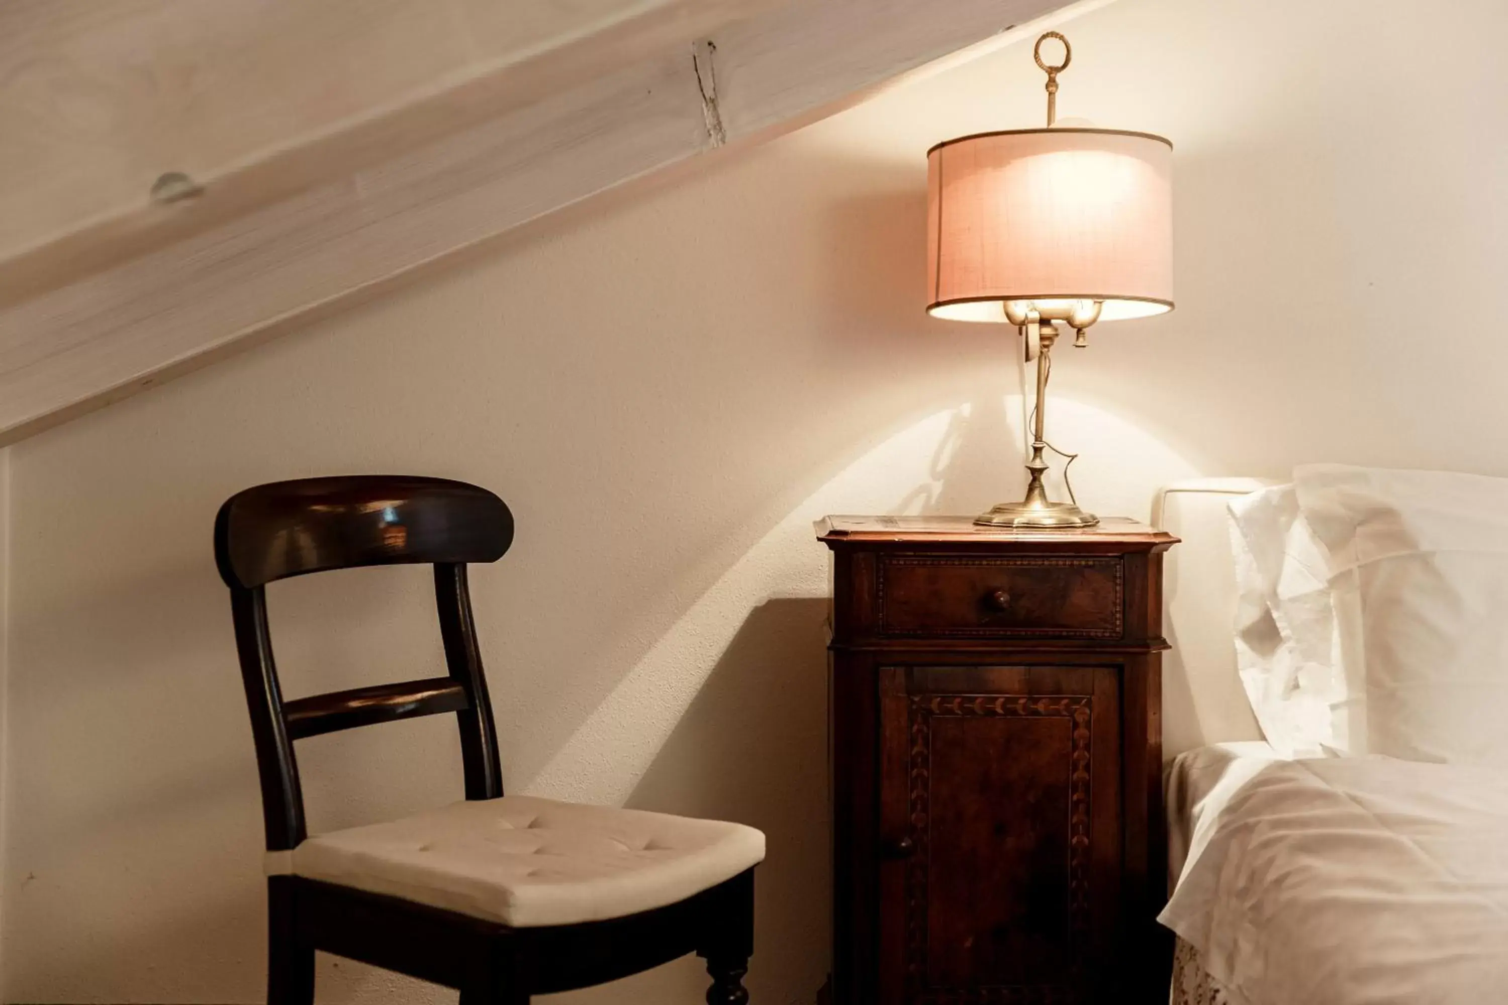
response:
[[[1298,506],[1330,565],[1368,744],[1508,765],[1508,479],[1316,464]]]

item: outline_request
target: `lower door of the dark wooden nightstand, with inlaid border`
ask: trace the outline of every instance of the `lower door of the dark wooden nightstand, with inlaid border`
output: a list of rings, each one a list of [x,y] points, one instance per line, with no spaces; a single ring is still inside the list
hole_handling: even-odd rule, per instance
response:
[[[1117,678],[881,671],[882,1000],[1087,994],[1116,924]]]

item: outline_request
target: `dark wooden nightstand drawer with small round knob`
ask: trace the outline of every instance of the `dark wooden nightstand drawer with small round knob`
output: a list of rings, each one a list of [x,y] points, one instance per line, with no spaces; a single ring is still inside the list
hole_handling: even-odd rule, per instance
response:
[[[879,630],[1119,639],[1123,577],[1119,557],[890,554],[879,567]]]

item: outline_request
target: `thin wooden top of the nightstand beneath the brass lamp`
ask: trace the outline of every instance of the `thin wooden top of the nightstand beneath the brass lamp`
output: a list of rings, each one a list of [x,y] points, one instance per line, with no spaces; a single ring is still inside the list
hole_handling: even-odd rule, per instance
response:
[[[823,517],[814,524],[828,544],[1004,544],[1167,547],[1178,538],[1128,517],[1101,517],[1093,527],[1031,530],[980,527],[973,517]]]

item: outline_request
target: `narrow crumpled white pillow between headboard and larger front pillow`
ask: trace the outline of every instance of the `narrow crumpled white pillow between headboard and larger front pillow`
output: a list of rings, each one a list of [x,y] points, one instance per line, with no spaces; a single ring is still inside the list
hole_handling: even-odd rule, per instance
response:
[[[1347,678],[1324,548],[1297,491],[1264,488],[1229,511],[1237,666],[1262,735],[1283,758],[1366,753],[1363,687]]]

